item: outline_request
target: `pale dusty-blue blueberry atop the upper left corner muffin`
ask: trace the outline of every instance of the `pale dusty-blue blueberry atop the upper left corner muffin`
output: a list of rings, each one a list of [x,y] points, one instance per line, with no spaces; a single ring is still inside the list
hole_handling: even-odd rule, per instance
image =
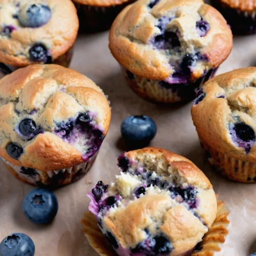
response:
[[[39,28],[49,22],[51,10],[48,6],[33,4],[26,6],[18,14],[19,23],[24,27]]]

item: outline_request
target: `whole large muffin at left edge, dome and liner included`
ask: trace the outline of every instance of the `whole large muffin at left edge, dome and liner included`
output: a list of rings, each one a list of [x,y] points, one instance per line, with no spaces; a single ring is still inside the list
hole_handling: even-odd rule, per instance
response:
[[[16,178],[55,186],[87,173],[111,118],[92,80],[58,65],[31,65],[2,78],[0,95],[0,156]]]

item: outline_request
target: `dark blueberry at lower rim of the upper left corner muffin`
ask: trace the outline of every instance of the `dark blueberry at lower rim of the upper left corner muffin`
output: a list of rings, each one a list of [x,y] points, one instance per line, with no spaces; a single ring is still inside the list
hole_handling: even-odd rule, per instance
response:
[[[37,43],[29,49],[29,58],[36,62],[52,63],[52,57],[49,55],[46,46],[41,43]]]

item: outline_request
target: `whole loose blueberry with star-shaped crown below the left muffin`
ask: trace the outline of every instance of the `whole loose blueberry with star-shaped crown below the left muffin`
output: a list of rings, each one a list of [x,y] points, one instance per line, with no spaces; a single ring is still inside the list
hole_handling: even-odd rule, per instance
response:
[[[26,218],[31,222],[47,224],[58,212],[58,200],[52,191],[35,188],[25,196],[22,208]]]

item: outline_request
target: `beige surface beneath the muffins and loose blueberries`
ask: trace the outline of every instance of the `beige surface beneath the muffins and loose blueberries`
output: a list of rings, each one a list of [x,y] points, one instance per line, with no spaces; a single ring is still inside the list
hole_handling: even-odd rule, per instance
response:
[[[234,38],[234,49],[218,74],[256,65],[256,36]],[[24,232],[35,243],[35,255],[96,256],[81,231],[80,219],[88,209],[86,194],[98,180],[110,182],[118,173],[117,157],[126,150],[120,139],[121,121],[130,115],[148,115],[158,126],[152,146],[166,148],[194,161],[208,176],[220,199],[230,209],[229,235],[216,255],[247,256],[256,251],[256,184],[240,184],[215,174],[205,163],[190,117],[191,103],[158,106],[137,97],[125,84],[118,63],[108,49],[108,32],[79,36],[71,68],[93,79],[109,95],[112,121],[108,136],[90,172],[78,182],[55,191],[59,211],[47,226],[30,223],[22,212],[22,200],[33,186],[23,184],[0,163],[0,239]],[[92,184],[87,184],[88,182]]]

